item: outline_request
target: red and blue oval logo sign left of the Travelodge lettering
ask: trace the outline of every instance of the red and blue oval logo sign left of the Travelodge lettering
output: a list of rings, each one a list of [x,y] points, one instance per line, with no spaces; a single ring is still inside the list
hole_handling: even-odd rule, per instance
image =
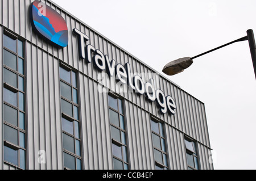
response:
[[[39,35],[58,47],[68,45],[68,27],[64,18],[41,1],[31,4],[31,24]]]

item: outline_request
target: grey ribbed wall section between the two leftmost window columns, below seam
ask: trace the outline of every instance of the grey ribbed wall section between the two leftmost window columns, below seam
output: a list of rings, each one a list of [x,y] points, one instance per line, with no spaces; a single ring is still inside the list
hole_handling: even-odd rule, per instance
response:
[[[28,169],[61,169],[59,63],[31,43],[26,48]],[[46,151],[46,165],[38,163],[39,150]]]

